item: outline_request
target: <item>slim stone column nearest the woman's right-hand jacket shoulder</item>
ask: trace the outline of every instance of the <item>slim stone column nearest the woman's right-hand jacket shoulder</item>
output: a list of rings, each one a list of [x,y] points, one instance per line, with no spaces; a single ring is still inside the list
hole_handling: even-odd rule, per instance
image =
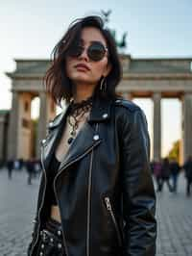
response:
[[[161,157],[161,110],[160,110],[160,92],[155,92],[154,100],[154,160],[159,161]]]

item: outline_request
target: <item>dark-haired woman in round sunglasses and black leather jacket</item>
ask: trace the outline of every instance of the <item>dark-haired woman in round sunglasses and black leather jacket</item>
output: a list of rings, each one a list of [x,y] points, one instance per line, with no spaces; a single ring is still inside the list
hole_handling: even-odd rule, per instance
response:
[[[146,118],[117,96],[120,79],[116,45],[103,20],[75,20],[45,75],[47,90],[66,108],[42,141],[28,255],[156,254]]]

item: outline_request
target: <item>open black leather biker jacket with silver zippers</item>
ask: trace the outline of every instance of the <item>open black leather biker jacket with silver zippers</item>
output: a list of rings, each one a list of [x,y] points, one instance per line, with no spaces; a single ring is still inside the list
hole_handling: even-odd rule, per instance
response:
[[[67,110],[49,123],[41,145],[41,175],[33,239],[49,213],[48,166]],[[129,100],[93,102],[84,128],[54,180],[67,256],[156,255],[156,194],[146,117]]]

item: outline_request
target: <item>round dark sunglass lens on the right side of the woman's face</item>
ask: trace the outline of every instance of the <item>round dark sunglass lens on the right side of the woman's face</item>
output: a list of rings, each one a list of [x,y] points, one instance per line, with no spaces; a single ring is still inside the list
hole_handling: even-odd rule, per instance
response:
[[[88,57],[97,62],[104,58],[106,53],[105,47],[102,43],[93,43],[88,48]]]

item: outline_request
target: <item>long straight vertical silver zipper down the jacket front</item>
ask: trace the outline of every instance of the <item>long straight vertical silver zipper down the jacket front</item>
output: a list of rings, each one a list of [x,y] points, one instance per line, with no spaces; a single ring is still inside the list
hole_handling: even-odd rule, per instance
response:
[[[96,124],[95,131],[97,132],[97,130],[98,130],[98,123]],[[93,164],[93,150],[90,156],[89,175],[88,175],[86,256],[89,256],[89,243],[90,243],[90,201],[91,201],[92,164]]]

